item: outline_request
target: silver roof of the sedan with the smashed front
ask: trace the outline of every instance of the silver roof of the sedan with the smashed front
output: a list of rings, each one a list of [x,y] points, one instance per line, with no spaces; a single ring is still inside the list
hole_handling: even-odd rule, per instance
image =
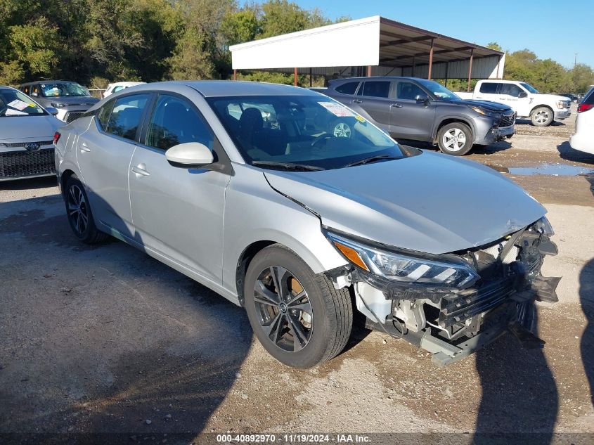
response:
[[[189,86],[204,97],[220,96],[294,96],[296,94],[318,96],[319,93],[298,86],[269,84],[265,82],[245,82],[240,80],[174,80],[153,82],[134,86],[134,91],[155,90],[161,86]],[[118,91],[119,93],[119,91]]]

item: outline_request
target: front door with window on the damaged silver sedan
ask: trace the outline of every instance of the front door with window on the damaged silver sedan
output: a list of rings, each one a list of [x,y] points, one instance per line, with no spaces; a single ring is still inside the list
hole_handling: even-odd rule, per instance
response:
[[[136,148],[129,171],[137,237],[157,254],[221,283],[230,176],[173,167],[165,157],[165,151],[179,143],[200,142],[213,150],[211,129],[185,98],[160,94],[144,142]]]

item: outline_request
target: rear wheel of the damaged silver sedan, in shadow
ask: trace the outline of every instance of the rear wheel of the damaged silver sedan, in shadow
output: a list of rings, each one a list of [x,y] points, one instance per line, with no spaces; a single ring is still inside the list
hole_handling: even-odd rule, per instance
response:
[[[79,241],[85,244],[98,244],[109,238],[107,233],[103,233],[95,225],[89,198],[86,196],[82,182],[75,174],[66,181],[64,201],[68,223]]]

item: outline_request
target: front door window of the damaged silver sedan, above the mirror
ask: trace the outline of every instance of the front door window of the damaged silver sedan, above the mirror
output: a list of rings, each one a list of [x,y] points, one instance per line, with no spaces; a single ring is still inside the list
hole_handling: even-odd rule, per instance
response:
[[[188,101],[162,94],[150,117],[146,145],[167,150],[179,143],[200,142],[212,150],[214,137]]]

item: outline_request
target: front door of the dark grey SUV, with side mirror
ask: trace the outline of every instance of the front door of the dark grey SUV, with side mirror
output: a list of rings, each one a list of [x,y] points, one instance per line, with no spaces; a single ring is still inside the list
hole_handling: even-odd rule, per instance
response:
[[[399,80],[390,108],[389,132],[396,138],[430,141],[435,120],[435,101],[415,82]],[[422,100],[418,101],[416,98]],[[427,101],[425,101],[427,99]]]

